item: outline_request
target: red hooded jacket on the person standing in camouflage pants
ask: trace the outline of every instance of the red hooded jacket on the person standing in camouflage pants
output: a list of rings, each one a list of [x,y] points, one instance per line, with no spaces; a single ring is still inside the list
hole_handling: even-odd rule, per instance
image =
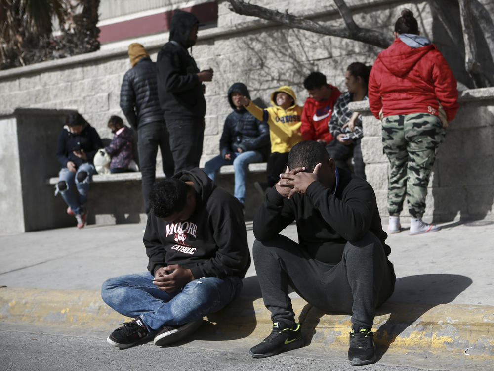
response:
[[[456,80],[436,46],[412,48],[396,38],[377,56],[369,77],[369,106],[383,116],[431,113],[439,102],[448,121],[458,110]]]

